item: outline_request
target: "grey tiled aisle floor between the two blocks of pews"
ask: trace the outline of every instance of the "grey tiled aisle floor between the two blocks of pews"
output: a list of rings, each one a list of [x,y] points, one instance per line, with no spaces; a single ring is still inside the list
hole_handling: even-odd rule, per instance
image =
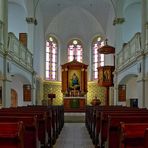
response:
[[[94,148],[84,123],[65,123],[53,148]]]

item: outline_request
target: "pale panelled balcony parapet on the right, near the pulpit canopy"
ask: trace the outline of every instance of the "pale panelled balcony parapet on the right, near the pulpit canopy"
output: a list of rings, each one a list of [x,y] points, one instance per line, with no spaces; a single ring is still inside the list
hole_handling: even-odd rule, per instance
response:
[[[117,54],[117,67],[120,69],[127,64],[130,64],[136,58],[141,55],[143,50],[141,49],[141,33],[138,32],[134,37],[123,45],[122,50]]]

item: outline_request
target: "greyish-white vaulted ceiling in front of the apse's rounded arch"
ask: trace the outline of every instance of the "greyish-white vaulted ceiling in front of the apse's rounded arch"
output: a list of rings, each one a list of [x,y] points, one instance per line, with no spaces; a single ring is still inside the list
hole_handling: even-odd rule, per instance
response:
[[[73,7],[84,9],[96,18],[101,26],[105,27],[108,23],[109,13],[114,11],[115,6],[113,7],[113,5],[116,4],[116,1],[118,0],[39,0],[39,5],[46,29],[57,15]]]

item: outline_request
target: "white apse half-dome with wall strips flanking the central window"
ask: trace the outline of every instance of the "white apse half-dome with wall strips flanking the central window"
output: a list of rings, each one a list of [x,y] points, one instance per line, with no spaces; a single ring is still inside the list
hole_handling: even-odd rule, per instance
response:
[[[78,38],[83,44],[83,62],[90,64],[90,43],[96,35],[104,35],[100,23],[86,10],[79,7],[67,8],[58,14],[49,24],[46,36],[51,33],[60,42],[60,64],[67,62],[67,43],[72,38]],[[59,67],[61,69],[61,67]],[[91,68],[89,65],[88,68]],[[89,77],[90,78],[90,77]]]

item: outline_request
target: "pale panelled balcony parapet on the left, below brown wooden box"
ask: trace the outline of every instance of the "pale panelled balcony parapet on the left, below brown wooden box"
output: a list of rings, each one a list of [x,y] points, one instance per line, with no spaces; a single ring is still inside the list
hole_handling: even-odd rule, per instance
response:
[[[22,43],[20,43],[12,32],[8,34],[8,53],[18,64],[23,65],[27,69],[32,69],[32,53],[26,47],[24,47]]]

